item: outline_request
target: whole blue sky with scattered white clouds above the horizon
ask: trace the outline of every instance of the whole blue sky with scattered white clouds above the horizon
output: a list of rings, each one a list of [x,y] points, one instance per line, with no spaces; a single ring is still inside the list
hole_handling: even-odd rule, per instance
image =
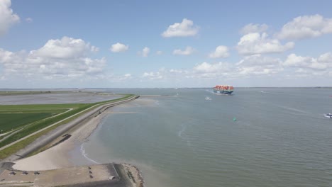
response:
[[[331,7],[0,0],[0,89],[332,86]]]

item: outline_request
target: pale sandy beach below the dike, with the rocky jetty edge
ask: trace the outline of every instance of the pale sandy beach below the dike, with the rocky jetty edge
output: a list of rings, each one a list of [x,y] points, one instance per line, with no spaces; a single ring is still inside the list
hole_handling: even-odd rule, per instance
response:
[[[87,118],[69,130],[65,131],[57,137],[55,140],[52,140],[45,146],[50,146],[50,148],[45,149],[38,154],[35,154],[31,157],[26,157],[23,159],[16,159],[11,161],[13,164],[12,169],[16,171],[54,171],[58,170],[58,173],[62,173],[64,169],[79,167],[79,166],[92,166],[92,165],[103,165],[96,164],[92,162],[92,159],[84,156],[81,148],[84,141],[89,138],[90,135],[96,130],[103,118],[106,117],[111,111],[111,107],[106,107],[99,113],[94,113],[89,115]],[[68,136],[70,136],[68,138]],[[65,139],[64,139],[65,137]],[[62,141],[63,140],[63,141]],[[35,142],[33,142],[35,143]],[[70,155],[70,152],[75,147],[79,147],[79,156]],[[78,153],[77,153],[78,154]],[[77,158],[79,162],[77,162]],[[84,159],[83,159],[84,158]],[[114,165],[113,163],[111,165]],[[140,174],[139,169],[136,166],[131,164],[117,164],[120,165],[119,168],[123,168],[123,174],[127,176],[122,176],[123,179],[128,178],[128,181],[131,181],[131,186],[143,187],[143,177]],[[2,172],[4,173],[4,172]],[[54,182],[54,181],[52,181]],[[50,183],[52,183],[50,182]],[[69,183],[71,181],[68,181]],[[1,186],[0,182],[0,186]]]

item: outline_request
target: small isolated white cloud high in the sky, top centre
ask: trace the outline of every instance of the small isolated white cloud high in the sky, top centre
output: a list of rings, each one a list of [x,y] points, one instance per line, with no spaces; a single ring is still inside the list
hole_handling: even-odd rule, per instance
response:
[[[194,22],[184,18],[182,23],[174,23],[169,26],[167,30],[162,33],[162,37],[184,37],[197,35],[199,31],[198,26],[194,26]]]

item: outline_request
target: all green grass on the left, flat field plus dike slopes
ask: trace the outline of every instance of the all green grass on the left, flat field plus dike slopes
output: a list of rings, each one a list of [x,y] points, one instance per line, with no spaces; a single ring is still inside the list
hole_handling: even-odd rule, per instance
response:
[[[16,140],[21,139],[22,137],[26,137],[33,132],[36,132],[40,129],[48,127],[49,125],[56,123],[62,119],[70,117],[76,113],[84,111],[87,108],[92,106],[96,107],[103,103],[121,101],[128,97],[133,96],[132,94],[126,94],[122,98],[117,98],[111,101],[101,101],[98,103],[73,103],[73,104],[43,104],[43,105],[7,105],[0,106],[0,128],[6,128],[7,130],[11,130],[11,128],[15,127],[16,129],[25,126],[19,132],[10,132],[9,137],[1,138],[4,140],[0,140],[0,147],[4,147],[5,145],[10,144]],[[69,111],[70,110],[70,111]],[[65,112],[67,111],[67,112]],[[58,114],[58,115],[57,115]],[[52,115],[56,115],[52,118],[48,118]],[[80,114],[82,115],[82,114]],[[6,120],[2,121],[2,117]],[[33,142],[36,138],[41,135],[49,132],[50,130],[56,128],[59,125],[69,122],[70,120],[77,118],[78,116],[74,116],[63,123],[55,125],[52,128],[48,128],[47,130],[43,130],[43,132],[39,132],[37,135],[33,135],[33,137],[29,137],[25,141],[21,141],[8,147],[2,151],[0,151],[0,159],[4,159],[8,157],[10,154],[18,151]],[[1,129],[0,129],[1,130]],[[13,135],[11,135],[11,133]],[[7,136],[7,135],[6,135]]]

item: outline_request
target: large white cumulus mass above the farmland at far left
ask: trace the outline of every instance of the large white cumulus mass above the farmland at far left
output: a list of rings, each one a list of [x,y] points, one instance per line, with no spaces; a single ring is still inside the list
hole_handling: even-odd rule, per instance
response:
[[[48,40],[43,47],[30,52],[10,52],[0,48],[4,77],[27,79],[95,79],[103,74],[106,60],[88,55],[93,46],[82,39],[63,37]]]

